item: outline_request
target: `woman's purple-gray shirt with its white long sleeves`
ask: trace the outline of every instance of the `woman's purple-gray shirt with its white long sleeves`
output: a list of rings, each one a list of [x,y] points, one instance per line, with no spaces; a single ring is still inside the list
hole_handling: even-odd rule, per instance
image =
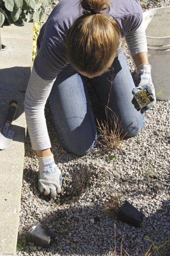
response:
[[[25,116],[34,150],[51,147],[44,106],[58,73],[69,64],[65,39],[68,28],[82,14],[79,1],[62,0],[41,28],[39,48],[25,94]],[[145,30],[141,26],[142,8],[137,0],[112,0],[109,17],[115,19],[125,37],[131,55],[147,52]],[[119,53],[118,53],[119,54]]]

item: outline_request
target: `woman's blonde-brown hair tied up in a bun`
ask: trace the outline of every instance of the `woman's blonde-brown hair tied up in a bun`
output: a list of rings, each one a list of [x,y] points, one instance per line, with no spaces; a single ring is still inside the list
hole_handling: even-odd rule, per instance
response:
[[[94,75],[108,71],[120,40],[119,24],[107,13],[108,0],[80,0],[83,14],[69,28],[66,36],[67,55],[77,71]],[[101,12],[106,10],[106,12]]]

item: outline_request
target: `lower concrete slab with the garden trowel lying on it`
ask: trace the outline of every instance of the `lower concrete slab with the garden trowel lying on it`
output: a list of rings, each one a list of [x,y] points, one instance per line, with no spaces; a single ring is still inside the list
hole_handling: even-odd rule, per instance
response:
[[[0,127],[3,126],[10,100],[18,101],[18,110],[11,130],[15,131],[10,146],[0,151],[0,252],[14,254],[19,226],[20,198],[22,189],[24,142],[25,142],[25,114],[24,94],[0,92]]]

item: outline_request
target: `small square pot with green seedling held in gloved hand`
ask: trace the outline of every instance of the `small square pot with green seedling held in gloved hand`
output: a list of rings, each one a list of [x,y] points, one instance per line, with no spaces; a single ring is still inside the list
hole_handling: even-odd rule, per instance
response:
[[[140,108],[143,108],[147,106],[149,103],[151,103],[152,101],[154,101],[150,92],[146,88],[139,91],[138,93],[135,93],[134,98],[137,100],[137,103]]]

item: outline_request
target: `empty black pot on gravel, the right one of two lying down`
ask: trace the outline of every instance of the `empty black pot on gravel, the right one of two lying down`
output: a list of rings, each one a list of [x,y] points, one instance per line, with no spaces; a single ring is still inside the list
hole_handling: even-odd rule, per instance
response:
[[[118,220],[126,222],[132,226],[139,227],[143,221],[144,215],[142,212],[138,211],[131,203],[127,200],[124,202],[123,206],[117,214]]]

